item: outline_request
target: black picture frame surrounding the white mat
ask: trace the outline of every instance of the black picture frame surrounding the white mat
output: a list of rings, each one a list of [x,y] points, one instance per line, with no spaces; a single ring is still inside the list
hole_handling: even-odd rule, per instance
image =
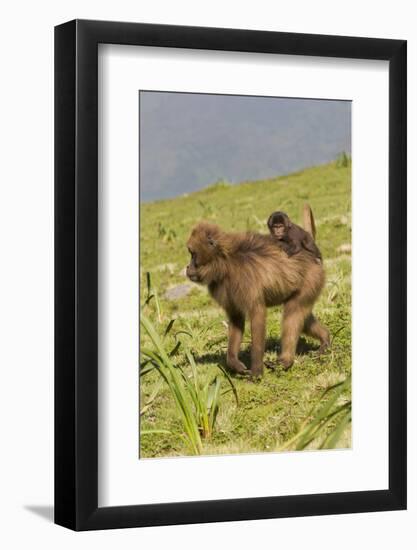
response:
[[[389,61],[389,488],[98,507],[98,44]],[[55,523],[74,530],[406,508],[406,41],[74,20],[55,28]],[[371,396],[370,396],[371,399]]]

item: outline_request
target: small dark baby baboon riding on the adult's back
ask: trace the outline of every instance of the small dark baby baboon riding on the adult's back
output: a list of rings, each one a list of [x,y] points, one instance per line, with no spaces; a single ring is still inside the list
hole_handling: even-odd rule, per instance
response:
[[[304,248],[322,261],[321,252],[310,233],[293,223],[285,212],[271,214],[268,219],[268,229],[288,257],[298,254]]]

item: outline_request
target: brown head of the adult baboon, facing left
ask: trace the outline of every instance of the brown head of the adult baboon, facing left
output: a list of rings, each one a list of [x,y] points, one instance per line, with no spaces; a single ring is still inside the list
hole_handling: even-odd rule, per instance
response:
[[[216,257],[216,243],[209,232],[196,227],[187,241],[190,263],[186,268],[187,277],[194,283],[210,282],[210,264]]]

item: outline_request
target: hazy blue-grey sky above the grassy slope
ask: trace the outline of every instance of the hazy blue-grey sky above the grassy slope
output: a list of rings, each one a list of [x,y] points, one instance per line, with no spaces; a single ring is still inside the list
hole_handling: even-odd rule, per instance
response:
[[[284,175],[342,151],[349,101],[140,92],[142,201]]]

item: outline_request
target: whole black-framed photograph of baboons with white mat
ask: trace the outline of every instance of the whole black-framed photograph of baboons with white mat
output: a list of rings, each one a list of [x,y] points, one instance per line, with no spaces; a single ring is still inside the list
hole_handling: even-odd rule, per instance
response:
[[[55,522],[406,508],[406,42],[55,29]]]

